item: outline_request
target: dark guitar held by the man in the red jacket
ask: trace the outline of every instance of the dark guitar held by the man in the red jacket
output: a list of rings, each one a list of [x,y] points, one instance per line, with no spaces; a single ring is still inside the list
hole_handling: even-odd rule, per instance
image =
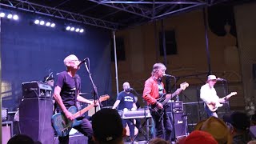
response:
[[[171,98],[174,98],[174,96],[178,95],[182,90],[185,90],[186,87],[190,86],[189,83],[183,82],[180,84],[180,88],[178,88],[174,94],[171,94],[170,97],[166,98],[166,94],[163,94],[161,98],[158,98],[157,101],[162,104],[163,107],[166,106],[166,103],[170,101]],[[163,109],[159,109],[157,104],[154,104],[151,106],[151,110],[158,112],[158,114],[162,115]]]

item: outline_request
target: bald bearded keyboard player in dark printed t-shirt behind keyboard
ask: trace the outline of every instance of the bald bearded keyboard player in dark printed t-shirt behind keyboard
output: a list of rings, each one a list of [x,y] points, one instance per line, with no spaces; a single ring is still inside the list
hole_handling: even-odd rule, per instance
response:
[[[113,109],[118,108],[118,110],[137,110],[135,104],[134,94],[130,92],[129,82],[124,82],[122,84],[123,91],[118,94],[117,100],[114,102]],[[126,127],[126,124],[129,126],[130,130],[130,140],[134,140],[134,120],[132,119],[123,119],[122,125]]]

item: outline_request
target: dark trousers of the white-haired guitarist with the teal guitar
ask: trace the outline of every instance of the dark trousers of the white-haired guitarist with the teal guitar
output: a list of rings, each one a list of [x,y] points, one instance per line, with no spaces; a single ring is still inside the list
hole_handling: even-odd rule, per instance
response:
[[[88,119],[84,117],[77,118],[78,120],[82,120],[81,125],[74,126],[74,129],[78,130],[80,133],[86,135],[88,137],[88,143],[93,143],[92,135],[93,129]],[[58,141],[60,144],[69,144],[69,135],[66,137],[58,137]]]

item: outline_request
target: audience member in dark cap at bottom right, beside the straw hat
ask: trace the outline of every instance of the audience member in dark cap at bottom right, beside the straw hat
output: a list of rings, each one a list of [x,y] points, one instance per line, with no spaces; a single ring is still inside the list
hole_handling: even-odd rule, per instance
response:
[[[223,117],[224,121],[233,126],[231,134],[234,144],[247,143],[250,138],[250,117],[243,112],[234,111],[230,116]]]

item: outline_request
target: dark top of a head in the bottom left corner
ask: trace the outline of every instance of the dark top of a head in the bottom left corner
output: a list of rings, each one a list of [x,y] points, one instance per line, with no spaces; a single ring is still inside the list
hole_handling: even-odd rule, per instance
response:
[[[34,144],[34,140],[25,134],[18,134],[10,138],[7,144]]]

